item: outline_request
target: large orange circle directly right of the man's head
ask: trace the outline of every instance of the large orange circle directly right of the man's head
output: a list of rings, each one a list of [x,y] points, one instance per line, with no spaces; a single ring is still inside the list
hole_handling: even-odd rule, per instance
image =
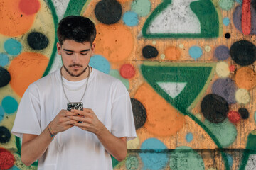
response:
[[[110,62],[120,62],[129,57],[134,47],[134,36],[127,26],[98,24],[96,29],[95,54],[103,55]]]

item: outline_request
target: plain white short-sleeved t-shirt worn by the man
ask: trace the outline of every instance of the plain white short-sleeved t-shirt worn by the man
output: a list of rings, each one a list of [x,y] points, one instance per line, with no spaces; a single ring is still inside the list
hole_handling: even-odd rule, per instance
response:
[[[79,101],[87,79],[63,80],[68,99]],[[58,69],[28,86],[11,132],[18,137],[23,133],[40,135],[55,115],[67,108],[67,103]],[[82,103],[84,108],[95,112],[112,135],[127,137],[127,140],[136,137],[129,93],[118,79],[92,69]],[[73,127],[55,136],[38,159],[40,169],[112,169],[112,160],[95,134]]]

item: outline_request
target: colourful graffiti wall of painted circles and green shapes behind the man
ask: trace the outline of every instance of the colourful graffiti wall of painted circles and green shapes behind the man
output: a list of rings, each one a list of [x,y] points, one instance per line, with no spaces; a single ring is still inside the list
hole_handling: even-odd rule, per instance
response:
[[[36,169],[11,128],[24,91],[61,66],[64,16],[97,28],[90,65],[131,96],[137,139],[114,169],[256,169],[255,0],[0,0],[0,169]]]

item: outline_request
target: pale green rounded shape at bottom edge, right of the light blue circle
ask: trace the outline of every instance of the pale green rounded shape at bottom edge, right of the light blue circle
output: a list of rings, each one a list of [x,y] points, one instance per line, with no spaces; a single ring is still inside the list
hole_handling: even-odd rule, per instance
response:
[[[203,158],[190,147],[177,147],[170,154],[171,170],[204,170]]]

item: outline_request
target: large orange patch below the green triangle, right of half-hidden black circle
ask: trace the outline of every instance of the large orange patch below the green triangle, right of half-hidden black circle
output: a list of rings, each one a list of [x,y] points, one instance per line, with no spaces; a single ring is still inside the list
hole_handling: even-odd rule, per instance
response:
[[[167,103],[149,84],[142,84],[134,98],[146,108],[147,120],[144,128],[156,136],[170,136],[183,128],[184,115]]]

